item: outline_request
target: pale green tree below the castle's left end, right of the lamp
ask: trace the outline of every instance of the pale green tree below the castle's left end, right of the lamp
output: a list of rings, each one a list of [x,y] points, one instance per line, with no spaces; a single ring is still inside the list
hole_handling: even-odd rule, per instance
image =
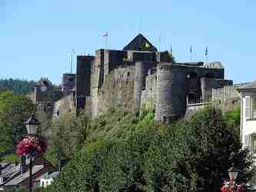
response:
[[[81,111],[76,117],[75,111],[62,114],[53,119],[49,134],[48,157],[53,163],[59,159],[71,159],[75,156],[87,138],[90,119]]]

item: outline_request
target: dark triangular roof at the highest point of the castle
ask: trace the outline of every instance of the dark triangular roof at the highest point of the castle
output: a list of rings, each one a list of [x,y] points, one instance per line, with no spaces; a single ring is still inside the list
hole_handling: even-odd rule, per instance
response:
[[[148,41],[143,35],[138,34],[123,50],[134,50],[134,51],[158,51],[151,42]]]

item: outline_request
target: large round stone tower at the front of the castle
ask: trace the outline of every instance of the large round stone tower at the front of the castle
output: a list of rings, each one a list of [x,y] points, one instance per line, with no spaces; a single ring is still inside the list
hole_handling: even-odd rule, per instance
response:
[[[169,123],[185,115],[186,73],[182,69],[171,64],[158,65],[155,121]]]

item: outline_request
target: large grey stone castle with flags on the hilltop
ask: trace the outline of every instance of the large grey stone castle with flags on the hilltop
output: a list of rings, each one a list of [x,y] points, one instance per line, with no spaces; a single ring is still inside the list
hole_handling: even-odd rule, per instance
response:
[[[176,62],[139,34],[122,50],[78,55],[77,73],[63,74],[62,98],[52,99],[52,115],[85,109],[94,118],[121,105],[154,110],[155,121],[168,123],[183,118],[188,104],[211,101],[213,89],[232,84],[221,62]],[[35,102],[43,91],[34,91]]]

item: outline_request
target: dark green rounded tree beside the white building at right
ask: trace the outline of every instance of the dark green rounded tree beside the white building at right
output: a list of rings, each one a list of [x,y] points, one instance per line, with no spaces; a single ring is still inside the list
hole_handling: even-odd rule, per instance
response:
[[[218,191],[223,180],[228,179],[227,170],[232,164],[244,170],[240,182],[247,182],[254,174],[248,151],[241,150],[239,127],[227,121],[220,110],[199,111],[186,127],[191,136],[190,164],[198,174],[198,188]]]

